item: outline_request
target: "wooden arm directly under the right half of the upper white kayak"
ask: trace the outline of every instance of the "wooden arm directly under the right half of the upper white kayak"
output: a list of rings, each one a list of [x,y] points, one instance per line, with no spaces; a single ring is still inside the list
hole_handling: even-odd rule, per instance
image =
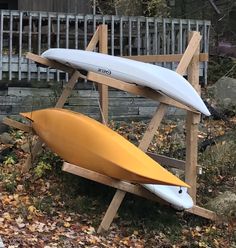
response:
[[[172,106],[175,106],[177,108],[181,108],[181,109],[189,110],[189,111],[195,111],[195,110],[190,109],[189,107],[187,107],[187,106],[185,106],[185,105],[183,105],[183,104],[181,104],[181,103],[179,103],[179,102],[177,102],[177,101],[175,101],[169,97],[161,95],[157,91],[152,90],[150,88],[145,88],[142,86],[136,86],[134,84],[125,83],[123,81],[120,81],[120,80],[117,80],[114,78],[109,78],[107,76],[100,75],[100,74],[97,74],[94,72],[89,72],[87,74],[87,79],[91,80],[91,81],[95,81],[95,82],[100,83],[100,84],[105,84],[105,85],[110,86],[110,87],[115,88],[115,89],[129,92],[129,93],[134,94],[134,95],[147,97],[147,98],[150,98],[150,99],[155,100],[155,101],[159,101],[159,102],[162,102],[162,103],[165,103],[168,105],[172,105]]]

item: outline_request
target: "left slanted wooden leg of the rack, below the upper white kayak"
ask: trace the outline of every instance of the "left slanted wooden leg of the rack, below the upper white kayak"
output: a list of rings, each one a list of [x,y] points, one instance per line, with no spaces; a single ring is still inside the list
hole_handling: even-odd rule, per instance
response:
[[[56,108],[62,108],[67,100],[67,98],[70,96],[71,91],[75,87],[75,84],[80,77],[80,73],[78,71],[74,71],[72,74],[69,82],[66,84],[65,89],[63,90],[61,96],[59,97],[55,107]],[[23,171],[28,171],[36,157],[36,155],[40,152],[40,149],[42,148],[43,142],[38,139],[35,145],[32,148],[31,154],[27,157],[25,164],[23,166]]]

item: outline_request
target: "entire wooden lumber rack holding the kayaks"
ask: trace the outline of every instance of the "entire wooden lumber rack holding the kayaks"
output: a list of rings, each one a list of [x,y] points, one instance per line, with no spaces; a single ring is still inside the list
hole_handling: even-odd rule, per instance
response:
[[[200,51],[200,41],[201,35],[199,32],[189,32],[189,43],[184,52],[184,54],[173,54],[173,55],[147,55],[147,56],[127,56],[127,58],[139,60],[143,62],[179,62],[176,72],[180,75],[184,75],[187,72],[188,81],[200,94],[199,86],[199,62],[208,61],[208,54],[199,53]],[[86,51],[93,51],[97,44],[98,50],[101,53],[107,53],[107,25],[100,25],[96,32],[94,33],[90,43],[87,46]],[[33,60],[39,66],[47,66],[55,68],[64,72],[69,73],[70,79],[66,84],[61,96],[59,97],[55,107],[63,108],[67,98],[70,96],[77,80],[79,78],[84,78],[90,81],[98,83],[100,105],[103,112],[102,121],[104,123],[108,120],[108,86],[116,88],[118,90],[123,90],[134,95],[139,95],[147,97],[149,99],[156,100],[160,102],[153,118],[151,119],[146,132],[143,135],[143,138],[139,144],[139,148],[150,155],[154,160],[161,164],[165,164],[169,167],[179,168],[185,171],[185,181],[188,183],[191,188],[189,189],[189,194],[193,198],[194,207],[192,209],[186,210],[189,213],[202,216],[207,219],[216,220],[217,215],[205,208],[199,207],[196,205],[196,195],[197,195],[197,174],[198,174],[198,124],[200,122],[200,113],[167,97],[163,96],[160,93],[146,87],[137,86],[135,84],[126,83],[120,80],[109,78],[94,72],[88,72],[86,76],[82,75],[78,70],[74,68],[61,64],[59,62],[43,58],[39,55],[28,53],[26,55],[28,59]],[[173,82],[175,83],[175,82]],[[173,159],[170,157],[157,155],[153,153],[148,153],[148,147],[153,139],[153,136],[158,129],[165,113],[167,112],[168,105],[175,106],[187,111],[186,116],[186,161]],[[17,121],[5,118],[3,122],[7,125],[10,125],[15,128],[19,128],[25,132],[33,131],[29,125],[19,123]],[[36,144],[32,148],[31,154],[28,156],[24,169],[29,170],[31,163],[34,160],[35,156],[38,154],[42,147],[42,142],[38,139]],[[103,220],[98,228],[98,232],[107,231],[113,221],[114,216],[116,215],[121,202],[124,199],[124,196],[127,192],[142,196],[147,199],[154,201],[164,202],[164,200],[158,198],[156,195],[152,194],[141,185],[135,185],[125,181],[116,180],[105,175],[101,175],[97,172],[90,171],[84,168],[81,168],[76,165],[69,164],[64,162],[63,171],[111,186],[116,188],[116,193],[103,217]]]

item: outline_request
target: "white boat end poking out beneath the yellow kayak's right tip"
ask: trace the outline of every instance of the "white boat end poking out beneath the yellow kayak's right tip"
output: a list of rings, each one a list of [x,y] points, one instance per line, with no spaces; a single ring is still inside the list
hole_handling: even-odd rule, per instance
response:
[[[193,200],[188,194],[186,187],[157,184],[142,184],[142,186],[166,202],[169,202],[177,210],[193,207]]]

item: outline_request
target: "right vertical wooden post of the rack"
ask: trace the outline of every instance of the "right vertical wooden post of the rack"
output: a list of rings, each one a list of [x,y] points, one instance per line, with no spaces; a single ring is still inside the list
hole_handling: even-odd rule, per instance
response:
[[[191,32],[191,37],[196,36],[196,32]],[[192,40],[192,38],[191,38]],[[188,68],[188,81],[200,93],[199,86],[199,42],[198,47],[195,49],[194,56]],[[198,124],[200,122],[200,114],[187,111],[186,119],[186,169],[185,181],[191,188],[189,194],[196,203],[197,195],[197,155],[198,155]]]

